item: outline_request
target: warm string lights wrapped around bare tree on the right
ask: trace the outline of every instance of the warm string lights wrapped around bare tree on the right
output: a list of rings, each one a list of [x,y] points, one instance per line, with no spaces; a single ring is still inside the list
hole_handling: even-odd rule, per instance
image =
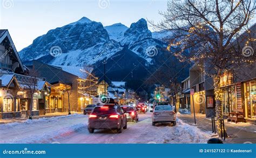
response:
[[[239,4],[238,4],[239,5]],[[215,28],[214,28],[215,29]],[[224,30],[224,29],[223,29]],[[223,31],[221,30],[221,31]],[[230,30],[226,30],[226,31],[230,31]],[[174,56],[176,56],[180,61],[191,61],[193,63],[197,63],[197,65],[199,66],[201,72],[203,72],[204,74],[207,74],[207,72],[205,71],[205,65],[204,63],[207,60],[211,60],[214,59],[215,56],[212,53],[207,53],[208,49],[212,49],[211,45],[207,45],[207,47],[202,46],[203,50],[200,50],[195,53],[195,54],[191,54],[191,56],[188,57],[188,55],[186,53],[184,53],[184,51],[188,50],[188,48],[193,47],[193,39],[198,40],[195,36],[200,37],[201,35],[208,35],[209,32],[209,28],[207,26],[207,24],[197,24],[196,26],[192,26],[191,28],[188,29],[188,34],[183,37],[181,36],[181,38],[176,38],[175,40],[172,41],[172,43],[170,43],[167,46],[167,50],[168,51],[172,51],[173,49],[180,49],[177,52],[174,52]],[[225,32],[225,31],[224,31]],[[235,31],[230,31],[233,33],[238,33]],[[247,30],[248,33],[250,33],[250,30]],[[251,37],[246,37],[246,42],[245,42],[245,46],[248,46],[251,42],[255,42],[256,39],[255,38],[251,38]],[[189,50],[188,50],[189,52]],[[235,51],[235,52],[227,52],[227,54],[230,54],[230,56],[233,56],[234,58],[229,59],[229,58],[219,58],[218,61],[225,61],[226,63],[230,63],[230,64],[239,64],[239,65],[245,65],[245,63],[247,64],[246,66],[249,66],[251,64],[253,64],[255,62],[255,59],[253,58],[245,58],[242,56],[242,52]],[[213,67],[214,68],[214,67]],[[227,67],[228,69],[228,67]],[[223,68],[223,72],[224,72],[225,68]],[[228,71],[228,70],[227,70]],[[220,83],[220,75],[218,74],[207,74],[210,77],[213,77],[214,80],[214,95],[215,95],[215,100],[216,100],[216,106],[215,106],[215,112],[216,112],[216,117],[217,117],[217,129],[218,129],[218,133],[221,134],[221,125],[220,125],[220,120],[223,119],[223,109],[221,106],[221,101],[223,100],[222,98],[222,92],[221,92],[221,83]],[[224,129],[222,129],[222,131],[226,131]],[[225,135],[227,135],[225,133]]]

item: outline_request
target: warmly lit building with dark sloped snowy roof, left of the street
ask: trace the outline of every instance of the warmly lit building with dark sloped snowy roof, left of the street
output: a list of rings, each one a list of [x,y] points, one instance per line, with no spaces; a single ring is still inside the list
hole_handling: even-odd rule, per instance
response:
[[[68,69],[67,66],[63,68],[62,66],[43,64],[36,60],[33,60],[32,67],[37,70],[39,77],[45,78],[48,83],[63,93],[62,97],[57,94],[47,97],[49,101],[49,106],[46,106],[47,112],[53,112],[51,107],[55,107],[56,104],[58,106],[58,102],[62,102],[62,112],[69,111],[69,104],[71,112],[81,112],[88,104],[92,104],[92,96],[84,91],[84,87],[88,86],[85,74],[82,71],[81,75],[74,73],[79,72],[77,71],[79,67]],[[68,72],[68,70],[71,71]]]

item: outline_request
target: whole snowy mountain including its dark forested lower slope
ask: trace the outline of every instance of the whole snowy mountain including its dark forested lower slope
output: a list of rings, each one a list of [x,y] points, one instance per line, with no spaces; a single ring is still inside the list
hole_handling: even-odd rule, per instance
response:
[[[154,32],[152,37],[143,18],[127,28],[121,23],[104,27],[83,17],[37,37],[19,56],[25,64],[39,60],[51,65],[90,65],[98,77],[103,75],[102,61],[106,60],[108,79],[142,80],[163,64],[160,59],[167,44],[162,34]]]

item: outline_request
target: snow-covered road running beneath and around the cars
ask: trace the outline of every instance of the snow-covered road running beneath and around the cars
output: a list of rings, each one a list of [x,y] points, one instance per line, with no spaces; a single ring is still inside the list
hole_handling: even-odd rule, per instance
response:
[[[0,125],[0,143],[206,143],[211,134],[183,121],[152,126],[151,113],[139,114],[123,133],[87,130],[87,115],[75,114]]]

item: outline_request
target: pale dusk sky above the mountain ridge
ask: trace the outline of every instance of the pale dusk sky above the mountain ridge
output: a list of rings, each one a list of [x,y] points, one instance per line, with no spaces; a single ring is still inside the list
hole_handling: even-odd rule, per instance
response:
[[[2,0],[0,28],[9,30],[20,51],[50,29],[82,17],[104,26],[122,23],[130,27],[140,18],[159,22],[158,11],[165,11],[166,4],[166,0]]]

